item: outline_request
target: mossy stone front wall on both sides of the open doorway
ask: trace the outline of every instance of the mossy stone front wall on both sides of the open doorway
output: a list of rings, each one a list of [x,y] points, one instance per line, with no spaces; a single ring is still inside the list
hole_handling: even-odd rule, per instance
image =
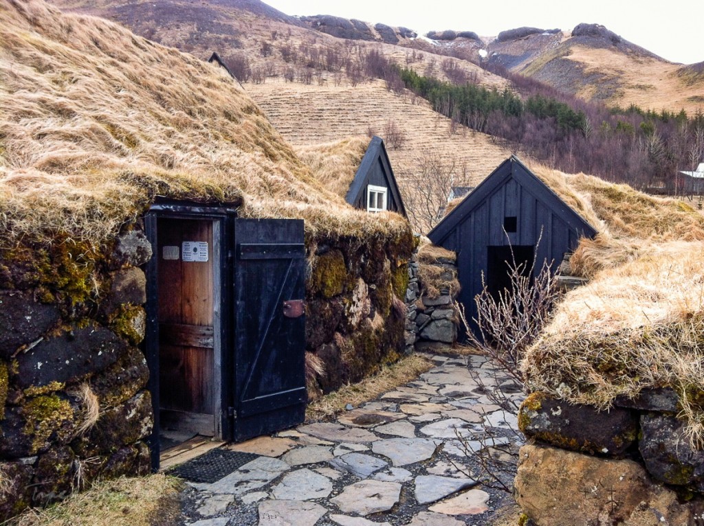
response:
[[[413,236],[306,240],[312,397],[404,351]],[[0,522],[96,477],[151,469],[142,224],[111,247],[0,250]]]

